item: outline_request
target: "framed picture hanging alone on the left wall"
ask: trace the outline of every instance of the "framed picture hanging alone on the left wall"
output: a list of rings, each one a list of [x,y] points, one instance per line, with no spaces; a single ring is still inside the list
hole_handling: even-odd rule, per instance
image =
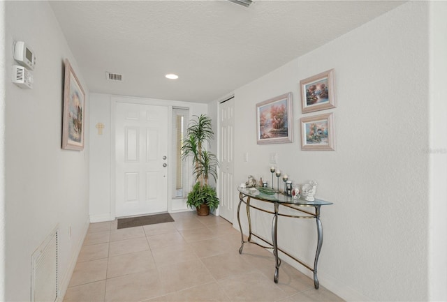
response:
[[[68,59],[65,60],[62,149],[84,149],[85,92]]]

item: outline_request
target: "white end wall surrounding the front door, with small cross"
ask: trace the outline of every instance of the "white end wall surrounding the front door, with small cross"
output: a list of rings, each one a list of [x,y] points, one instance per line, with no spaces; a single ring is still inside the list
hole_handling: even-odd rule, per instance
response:
[[[185,103],[177,100],[158,100],[153,98],[134,98],[91,93],[90,96],[90,220],[91,222],[115,219],[115,102],[145,103],[164,105],[170,108],[188,107],[190,116],[207,113],[207,105]],[[103,135],[98,135],[95,125],[103,123]],[[171,135],[171,131],[168,131]],[[171,142],[168,137],[168,142]],[[169,151],[171,152],[171,151]],[[171,154],[168,154],[170,158]],[[168,163],[169,165],[169,163]],[[171,173],[172,174],[172,173]],[[171,175],[169,175],[171,177]],[[168,185],[172,181],[168,180]],[[168,190],[168,211],[187,211],[185,199],[173,199],[172,190]]]

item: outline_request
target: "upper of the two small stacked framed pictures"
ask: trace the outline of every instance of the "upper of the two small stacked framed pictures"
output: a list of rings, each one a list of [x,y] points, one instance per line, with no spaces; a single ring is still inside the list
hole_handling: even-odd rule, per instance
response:
[[[335,108],[333,73],[331,69],[300,81],[302,113]]]

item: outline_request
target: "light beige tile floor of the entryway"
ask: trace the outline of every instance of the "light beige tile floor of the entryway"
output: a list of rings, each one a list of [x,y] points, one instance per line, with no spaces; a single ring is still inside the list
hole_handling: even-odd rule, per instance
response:
[[[216,216],[172,213],[175,222],[117,229],[92,223],[64,301],[342,301]]]

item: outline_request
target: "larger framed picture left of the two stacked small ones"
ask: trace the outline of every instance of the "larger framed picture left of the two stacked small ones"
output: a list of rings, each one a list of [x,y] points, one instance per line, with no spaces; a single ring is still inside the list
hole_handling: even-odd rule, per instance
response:
[[[280,144],[293,140],[292,93],[256,104],[258,144]]]

